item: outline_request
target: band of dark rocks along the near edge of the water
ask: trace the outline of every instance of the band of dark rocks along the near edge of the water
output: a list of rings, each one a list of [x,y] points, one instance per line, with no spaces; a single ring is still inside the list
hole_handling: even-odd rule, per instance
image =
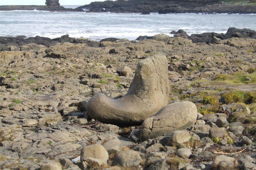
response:
[[[161,33],[163,34],[163,33]],[[204,32],[201,34],[191,34],[188,35],[186,31],[184,30],[172,30],[172,32],[169,32],[168,34],[171,34],[171,36],[168,36],[170,38],[175,38],[175,37],[182,37],[186,38],[188,40],[192,40],[192,42],[204,42],[204,43],[212,43],[212,42],[217,42],[220,40],[225,40],[228,38],[256,38],[256,31],[255,30],[250,30],[248,28],[235,28],[235,27],[230,27],[228,28],[227,32],[224,33],[216,33],[216,32]],[[151,40],[153,36],[138,36],[136,39],[128,40],[125,37],[123,38],[115,38],[115,37],[108,37],[108,38],[102,38],[102,39],[97,39],[97,40],[92,40],[90,38],[73,38],[69,37],[68,34],[63,35],[61,37],[57,38],[48,38],[48,37],[42,37],[42,36],[35,36],[35,37],[26,37],[24,35],[20,36],[0,36],[0,45],[2,48],[6,46],[5,44],[8,44],[8,46],[19,46],[20,44],[28,44],[28,43],[34,43],[38,45],[45,45],[45,46],[50,46],[54,45],[57,43],[63,43],[63,42],[70,42],[70,43],[76,43],[78,40],[78,43],[80,40],[87,41],[87,42],[97,42],[96,44],[102,42],[102,41],[142,41],[142,40]],[[0,46],[0,49],[1,49]]]

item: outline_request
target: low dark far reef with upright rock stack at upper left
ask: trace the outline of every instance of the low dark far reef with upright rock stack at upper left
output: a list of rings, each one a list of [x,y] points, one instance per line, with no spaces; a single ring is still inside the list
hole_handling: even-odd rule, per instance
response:
[[[44,5],[3,5],[0,6],[0,11],[12,10],[42,10],[50,12],[84,12],[82,9],[64,8],[60,6],[59,0],[46,0]]]

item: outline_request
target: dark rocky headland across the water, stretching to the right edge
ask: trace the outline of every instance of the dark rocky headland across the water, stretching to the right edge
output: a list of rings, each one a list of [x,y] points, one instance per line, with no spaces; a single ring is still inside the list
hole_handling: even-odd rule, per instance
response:
[[[142,13],[256,13],[256,2],[239,0],[107,0],[80,6],[87,12]]]

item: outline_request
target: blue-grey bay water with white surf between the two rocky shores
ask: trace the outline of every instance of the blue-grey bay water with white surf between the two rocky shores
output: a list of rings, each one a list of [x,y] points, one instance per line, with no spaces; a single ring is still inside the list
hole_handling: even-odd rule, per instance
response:
[[[77,6],[65,6],[75,8]],[[44,36],[127,38],[170,34],[183,29],[187,34],[225,33],[229,27],[256,30],[256,14],[116,14],[86,12],[0,11],[0,36]]]

